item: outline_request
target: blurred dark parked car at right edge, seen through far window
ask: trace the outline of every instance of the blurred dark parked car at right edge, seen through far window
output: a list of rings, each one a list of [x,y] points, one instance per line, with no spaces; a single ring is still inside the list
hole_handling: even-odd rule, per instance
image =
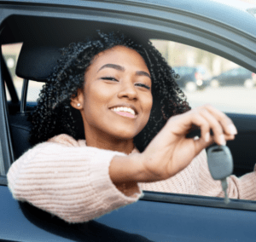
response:
[[[252,88],[256,84],[256,74],[245,68],[239,67],[223,72],[215,76],[210,81],[210,85],[215,88],[219,86],[242,85],[245,88]]]

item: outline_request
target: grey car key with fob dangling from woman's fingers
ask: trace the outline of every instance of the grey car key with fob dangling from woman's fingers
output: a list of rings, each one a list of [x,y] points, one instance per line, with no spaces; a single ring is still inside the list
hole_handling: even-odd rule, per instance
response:
[[[230,202],[227,189],[227,177],[233,172],[233,158],[230,153],[229,147],[214,146],[210,147],[207,151],[208,166],[214,180],[220,180],[224,190],[225,204]]]

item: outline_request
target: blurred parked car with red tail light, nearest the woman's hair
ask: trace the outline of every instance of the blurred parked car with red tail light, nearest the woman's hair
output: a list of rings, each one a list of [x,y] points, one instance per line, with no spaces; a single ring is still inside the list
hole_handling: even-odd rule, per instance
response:
[[[207,86],[207,70],[203,67],[172,66],[172,69],[179,76],[176,78],[178,86],[188,92],[204,89]]]

